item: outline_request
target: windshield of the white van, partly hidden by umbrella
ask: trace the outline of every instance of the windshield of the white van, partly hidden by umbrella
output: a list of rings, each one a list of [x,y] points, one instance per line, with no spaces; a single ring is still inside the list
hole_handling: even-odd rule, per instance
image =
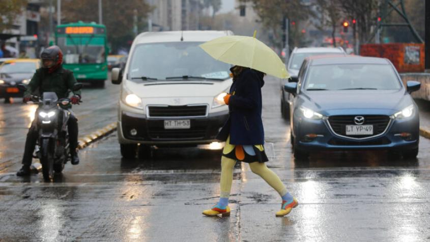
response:
[[[230,78],[230,64],[213,59],[199,44],[202,43],[166,42],[137,45],[130,61],[129,78]]]

